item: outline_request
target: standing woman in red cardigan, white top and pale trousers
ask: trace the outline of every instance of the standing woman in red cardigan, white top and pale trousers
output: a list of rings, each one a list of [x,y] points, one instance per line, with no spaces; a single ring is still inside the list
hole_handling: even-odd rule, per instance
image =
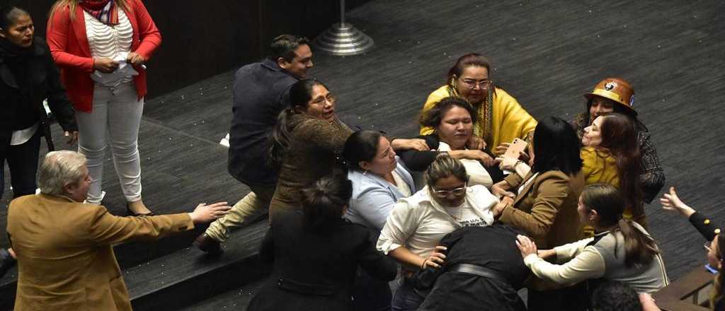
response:
[[[141,0],[58,0],[50,12],[47,41],[73,102],[93,182],[88,203],[101,203],[106,145],[128,213],[151,213],[141,200],[138,126],[146,95],[146,62],[161,34]]]

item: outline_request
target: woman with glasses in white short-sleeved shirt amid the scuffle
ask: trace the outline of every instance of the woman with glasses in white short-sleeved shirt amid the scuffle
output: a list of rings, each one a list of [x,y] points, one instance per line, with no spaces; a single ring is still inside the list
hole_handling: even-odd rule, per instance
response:
[[[491,209],[502,203],[486,187],[467,182],[463,163],[440,155],[426,171],[426,187],[395,204],[378,238],[378,250],[402,264],[402,284],[393,296],[392,310],[416,310],[423,302],[425,297],[408,278],[444,263],[445,247],[437,245],[446,234],[494,222]]]

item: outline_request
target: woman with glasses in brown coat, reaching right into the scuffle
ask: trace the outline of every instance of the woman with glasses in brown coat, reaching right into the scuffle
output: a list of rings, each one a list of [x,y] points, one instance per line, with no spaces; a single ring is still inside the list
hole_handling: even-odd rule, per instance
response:
[[[270,217],[280,210],[297,209],[299,189],[334,171],[352,130],[335,113],[335,96],[322,82],[303,79],[289,90],[291,106],[278,116],[270,137],[270,161],[279,169],[270,202]],[[394,140],[393,148],[409,148],[411,140]]]

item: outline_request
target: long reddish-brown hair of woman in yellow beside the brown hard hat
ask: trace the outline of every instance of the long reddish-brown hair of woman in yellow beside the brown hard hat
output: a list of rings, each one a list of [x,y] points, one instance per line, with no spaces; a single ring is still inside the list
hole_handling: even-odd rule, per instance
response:
[[[598,148],[608,150],[617,161],[619,189],[634,211],[642,211],[642,189],[639,187],[639,143],[637,125],[624,114],[602,116],[602,142]],[[642,211],[643,213],[643,211]]]

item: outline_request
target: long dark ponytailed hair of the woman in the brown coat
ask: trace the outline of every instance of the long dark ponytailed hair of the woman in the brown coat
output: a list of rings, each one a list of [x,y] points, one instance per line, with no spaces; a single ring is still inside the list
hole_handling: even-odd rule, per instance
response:
[[[270,134],[270,163],[278,168],[282,163],[282,158],[287,148],[289,148],[290,133],[294,129],[289,119],[297,114],[296,108],[307,108],[312,99],[312,88],[315,85],[325,86],[322,82],[315,79],[302,79],[294,83],[289,89],[289,107],[285,108],[277,117],[277,124]],[[327,88],[325,86],[325,88]]]

